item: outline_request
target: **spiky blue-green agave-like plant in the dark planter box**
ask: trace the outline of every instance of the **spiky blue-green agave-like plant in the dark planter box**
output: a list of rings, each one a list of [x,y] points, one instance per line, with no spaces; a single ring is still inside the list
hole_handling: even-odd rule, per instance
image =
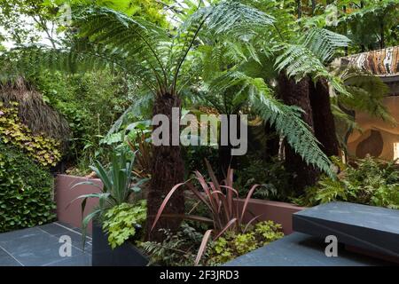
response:
[[[148,180],[148,178],[140,178],[133,175],[135,157],[136,153],[133,153],[132,157],[129,158],[128,151],[114,152],[111,164],[108,167],[98,161],[95,162],[94,166],[90,166],[90,169],[102,181],[103,186],[96,185],[91,181],[84,181],[72,186],[72,188],[75,188],[79,185],[92,185],[100,189],[100,193],[83,194],[71,201],[72,203],[76,200],[82,200],[83,240],[90,220],[93,218],[100,219],[107,209],[132,201],[133,195],[139,193],[140,186]],[[98,207],[83,218],[86,202],[89,198],[98,198]]]

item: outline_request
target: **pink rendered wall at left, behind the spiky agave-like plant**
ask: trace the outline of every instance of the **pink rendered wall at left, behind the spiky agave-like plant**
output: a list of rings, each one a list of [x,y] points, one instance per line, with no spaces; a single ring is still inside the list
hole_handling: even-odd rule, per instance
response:
[[[82,227],[82,200],[77,200],[72,203],[71,201],[83,194],[100,192],[98,187],[93,185],[78,185],[71,189],[72,186],[82,181],[91,181],[96,185],[102,186],[102,183],[98,178],[74,177],[68,175],[57,176],[55,184],[55,200],[57,202],[57,217],[60,222],[75,227]],[[83,216],[87,216],[96,205],[98,205],[98,199],[88,199]],[[91,222],[88,226],[88,233],[91,233]]]

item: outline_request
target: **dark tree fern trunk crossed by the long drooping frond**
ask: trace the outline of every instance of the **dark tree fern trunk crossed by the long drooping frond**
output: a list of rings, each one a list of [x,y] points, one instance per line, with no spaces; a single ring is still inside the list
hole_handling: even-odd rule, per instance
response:
[[[285,74],[280,74],[278,88],[279,96],[286,105],[300,106],[304,110],[302,119],[313,130],[313,115],[309,99],[309,78],[304,78],[299,83],[295,83],[293,79],[287,78]],[[285,154],[286,170],[293,174],[295,192],[301,194],[307,185],[315,185],[319,177],[319,171],[304,162],[301,156],[296,154],[287,143],[285,145]]]

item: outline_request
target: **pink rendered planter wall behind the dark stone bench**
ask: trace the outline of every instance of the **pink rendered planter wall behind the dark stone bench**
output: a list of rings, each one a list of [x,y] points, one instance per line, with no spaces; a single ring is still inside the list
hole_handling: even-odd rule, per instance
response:
[[[239,200],[239,206],[242,207],[244,200]],[[259,219],[262,221],[271,220],[283,225],[285,234],[293,233],[293,213],[305,209],[292,203],[280,201],[264,201],[259,199],[251,199],[248,203],[246,216],[244,220],[247,222],[253,217],[262,214]],[[252,213],[252,214],[251,214]]]

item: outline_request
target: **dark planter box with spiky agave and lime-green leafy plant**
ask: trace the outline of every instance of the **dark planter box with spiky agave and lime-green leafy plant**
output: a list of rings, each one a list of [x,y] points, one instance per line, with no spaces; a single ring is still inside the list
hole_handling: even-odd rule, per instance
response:
[[[79,196],[82,212],[89,198],[98,198],[98,207],[82,218],[83,240],[87,225],[93,220],[92,265],[93,266],[141,266],[148,259],[134,243],[143,237],[146,201],[138,200],[140,186],[148,179],[133,176],[135,153],[127,149],[114,151],[109,167],[96,161],[90,167],[103,187],[100,193]],[[82,182],[77,185],[93,185]],[[83,242],[84,243],[84,242]],[[83,245],[84,246],[84,245]]]

